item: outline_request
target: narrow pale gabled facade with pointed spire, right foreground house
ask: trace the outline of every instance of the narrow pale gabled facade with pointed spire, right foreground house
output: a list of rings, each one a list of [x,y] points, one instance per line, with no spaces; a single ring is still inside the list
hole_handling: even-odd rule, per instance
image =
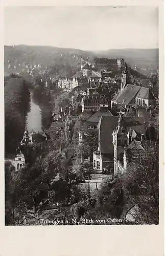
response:
[[[114,147],[114,176],[121,174],[119,163],[123,166],[124,147],[129,143],[126,123],[123,114],[120,112],[119,121],[116,129],[112,133]]]

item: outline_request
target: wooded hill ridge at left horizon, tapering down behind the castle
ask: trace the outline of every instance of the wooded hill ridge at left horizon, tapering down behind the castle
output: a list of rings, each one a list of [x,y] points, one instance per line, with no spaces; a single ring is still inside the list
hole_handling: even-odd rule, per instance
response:
[[[18,45],[5,46],[5,65],[15,65],[15,63],[32,63],[44,66],[54,65],[56,62],[77,66],[80,64],[80,57],[95,57],[95,53],[84,52],[78,49],[65,49],[51,46],[26,46]]]

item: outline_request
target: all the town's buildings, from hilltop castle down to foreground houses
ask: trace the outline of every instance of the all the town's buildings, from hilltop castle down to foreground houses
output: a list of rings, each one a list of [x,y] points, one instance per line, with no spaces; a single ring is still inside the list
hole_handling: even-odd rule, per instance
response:
[[[78,129],[78,144],[83,143],[86,133],[96,131],[98,148],[92,156],[93,169],[122,173],[128,162],[127,149],[145,150],[146,123],[150,120],[151,110],[158,113],[152,83],[148,78],[133,76],[124,59],[96,59],[95,65],[86,62],[81,65],[80,73],[79,77],[58,80],[58,87],[69,92],[70,106],[61,109],[60,113],[53,113],[52,125],[41,135],[43,141],[50,139],[48,135],[59,137],[68,116],[76,121],[77,114],[85,116],[88,113]],[[48,87],[48,81],[45,87]],[[133,114],[129,115],[129,112]],[[26,136],[28,140],[33,137],[27,135],[27,131],[24,140]],[[17,154],[12,161],[18,169],[25,159]]]

